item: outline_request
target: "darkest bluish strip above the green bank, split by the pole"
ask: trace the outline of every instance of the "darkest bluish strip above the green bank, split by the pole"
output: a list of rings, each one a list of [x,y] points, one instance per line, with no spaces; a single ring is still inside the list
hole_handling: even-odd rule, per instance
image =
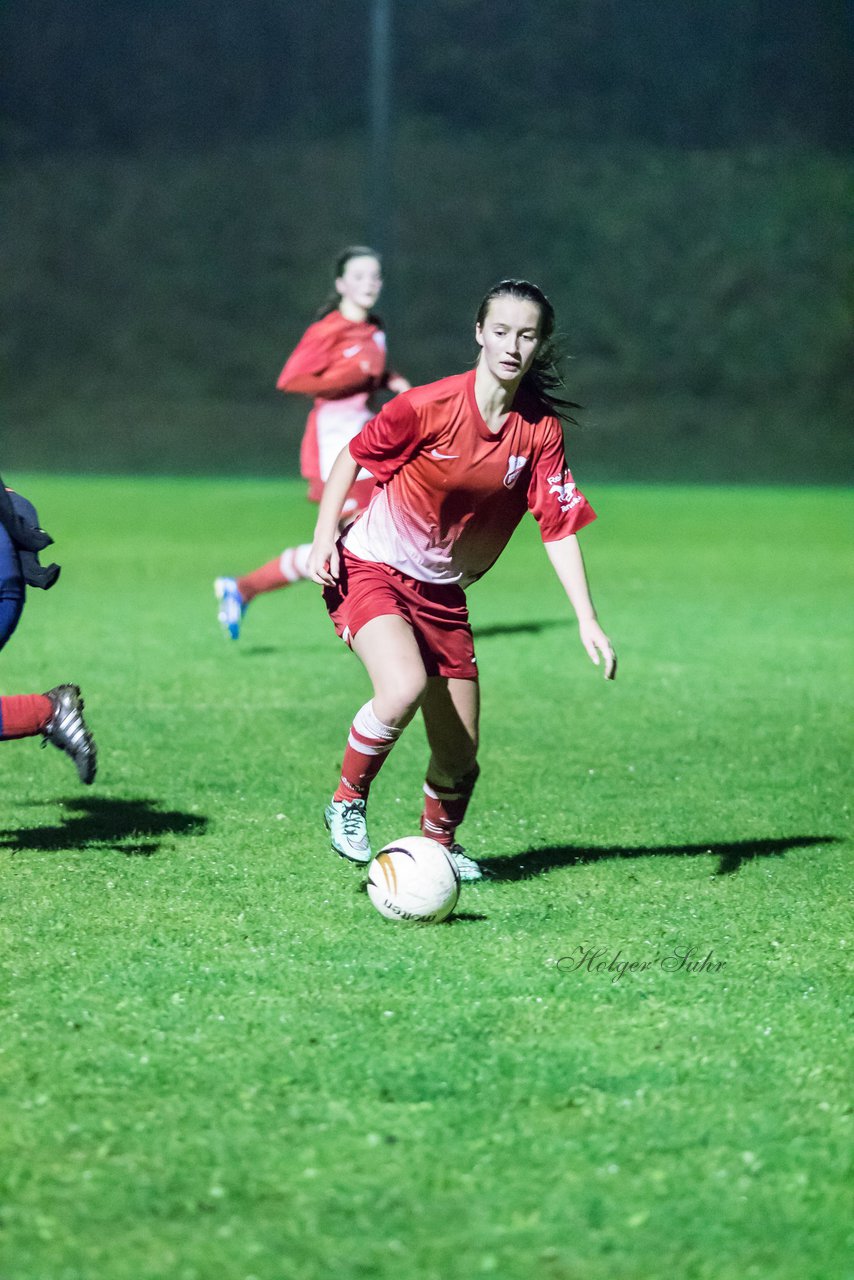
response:
[[[366,0],[6,0],[6,154],[197,147],[348,128]],[[850,0],[394,6],[394,92],[453,128],[671,146],[854,137]]]

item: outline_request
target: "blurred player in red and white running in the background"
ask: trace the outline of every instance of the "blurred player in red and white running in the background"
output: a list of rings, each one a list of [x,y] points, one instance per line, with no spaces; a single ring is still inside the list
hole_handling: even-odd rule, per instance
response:
[[[320,502],[338,453],[370,419],[371,394],[379,388],[396,394],[410,388],[406,378],[385,366],[385,333],[373,314],[382,288],[379,256],[359,244],[346,248],[335,264],[334,293],[279,374],[280,392],[314,398],[300,451],[311,502]],[[342,527],[364,511],[373,489],[373,477],[361,470],[343,503]],[[216,579],[218,618],[232,640],[239,637],[250,600],[309,577],[310,549],[310,544],[288,547],[251,573]]]

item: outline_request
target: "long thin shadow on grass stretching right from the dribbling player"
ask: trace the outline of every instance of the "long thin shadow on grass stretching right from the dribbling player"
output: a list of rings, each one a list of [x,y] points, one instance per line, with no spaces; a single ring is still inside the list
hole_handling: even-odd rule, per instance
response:
[[[533,879],[560,867],[579,867],[598,863],[606,858],[718,858],[716,876],[731,876],[744,863],[754,858],[780,858],[790,849],[807,849],[812,845],[839,844],[839,836],[787,836],[781,840],[732,840],[722,844],[705,845],[638,845],[634,847],[612,846],[603,849],[584,849],[563,845],[548,849],[531,849],[520,858],[479,858],[478,861],[493,881]]]

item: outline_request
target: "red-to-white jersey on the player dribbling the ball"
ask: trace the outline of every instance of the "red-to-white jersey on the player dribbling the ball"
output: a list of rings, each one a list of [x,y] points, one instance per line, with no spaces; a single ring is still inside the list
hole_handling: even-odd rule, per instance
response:
[[[474,370],[396,397],[350,452],[379,488],[347,530],[347,550],[421,582],[474,582],[526,511],[547,543],[595,520],[566,465],[558,419],[521,392],[490,431]]]

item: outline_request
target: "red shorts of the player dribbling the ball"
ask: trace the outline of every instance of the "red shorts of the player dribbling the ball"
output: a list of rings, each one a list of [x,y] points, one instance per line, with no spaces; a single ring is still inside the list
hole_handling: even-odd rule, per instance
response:
[[[448,582],[419,582],[389,564],[359,559],[339,544],[341,576],[323,598],[346,644],[371,618],[387,613],[412,627],[428,676],[476,680],[475,645],[466,593]]]

